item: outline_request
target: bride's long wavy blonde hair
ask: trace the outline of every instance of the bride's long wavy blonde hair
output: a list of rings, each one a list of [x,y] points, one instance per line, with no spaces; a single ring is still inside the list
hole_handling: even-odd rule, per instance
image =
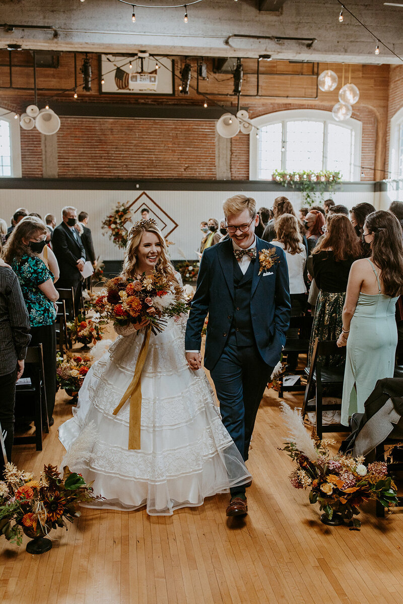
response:
[[[139,225],[134,225],[127,238],[126,251],[124,252],[122,277],[135,278],[138,271],[137,249],[141,243],[143,233],[154,233],[161,243],[161,255],[155,265],[155,270],[164,275],[175,275],[175,270],[168,257],[168,248],[158,226],[148,220],[141,220]]]

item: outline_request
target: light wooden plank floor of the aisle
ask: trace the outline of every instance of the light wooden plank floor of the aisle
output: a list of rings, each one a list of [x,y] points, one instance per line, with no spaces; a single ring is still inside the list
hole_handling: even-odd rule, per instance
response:
[[[57,426],[71,417],[64,391],[44,450],[18,446],[19,467],[39,474],[60,463]],[[301,397],[286,395],[293,406]],[[40,556],[0,541],[3,604],[392,604],[403,602],[403,510],[385,519],[368,504],[361,532],[321,524],[308,493],[288,481],[292,464],[277,448],[286,435],[279,399],[266,391],[248,467],[249,515],[227,519],[228,496],[172,517],[82,509],[51,532]],[[330,435],[329,435],[330,437]],[[335,434],[340,442],[343,435]]]

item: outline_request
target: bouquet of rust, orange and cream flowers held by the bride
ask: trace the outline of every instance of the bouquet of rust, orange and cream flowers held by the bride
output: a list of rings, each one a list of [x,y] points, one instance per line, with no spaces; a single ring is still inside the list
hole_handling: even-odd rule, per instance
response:
[[[150,320],[156,331],[163,331],[165,318],[186,312],[181,286],[173,275],[157,271],[138,279],[114,277],[106,281],[106,292],[95,301],[98,312],[120,326]]]

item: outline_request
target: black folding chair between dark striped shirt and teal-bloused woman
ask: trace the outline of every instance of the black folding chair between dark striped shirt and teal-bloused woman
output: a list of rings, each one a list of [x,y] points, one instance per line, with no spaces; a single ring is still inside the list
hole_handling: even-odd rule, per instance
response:
[[[46,404],[44,354],[42,344],[30,346],[25,357],[26,377],[30,384],[16,384],[16,418],[34,421],[35,432],[31,436],[14,437],[14,445],[36,445],[36,451],[42,451],[42,431],[49,432],[48,410]]]

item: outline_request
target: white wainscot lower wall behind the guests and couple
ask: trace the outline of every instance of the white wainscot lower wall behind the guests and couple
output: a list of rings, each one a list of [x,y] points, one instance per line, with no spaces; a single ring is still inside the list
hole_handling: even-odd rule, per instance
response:
[[[123,250],[118,249],[108,236],[103,236],[101,230],[102,221],[111,212],[117,202],[132,202],[141,194],[141,190],[136,191],[107,191],[107,190],[45,190],[45,189],[0,189],[0,217],[7,224],[10,224],[10,219],[16,208],[27,207],[29,211],[37,212],[42,217],[47,213],[55,214],[57,223],[60,222],[60,213],[64,206],[72,205],[80,211],[86,211],[89,214],[88,226],[92,231],[94,240],[95,253],[102,260],[120,260],[123,259]],[[257,207],[271,208],[274,199],[282,194],[286,194],[289,200],[294,205],[295,209],[301,207],[302,195],[298,191],[240,191],[234,183],[233,191],[145,191],[160,208],[169,214],[169,216],[178,223],[175,230],[169,234],[168,239],[175,245],[170,246],[170,255],[173,260],[195,260],[196,250],[202,238],[202,233],[199,230],[201,220],[208,220],[214,217],[221,220],[222,202],[237,193],[250,195],[256,199]],[[400,191],[402,194],[402,191]],[[391,193],[392,194],[392,193]],[[387,209],[388,194],[373,193],[371,191],[354,193],[349,191],[340,191],[332,193],[332,199],[336,204],[344,204],[351,208],[355,204],[361,202],[369,202],[375,207]],[[326,198],[326,195],[325,195]],[[144,205],[152,207],[152,203],[144,196]],[[392,199],[402,199],[393,196]],[[391,201],[392,201],[391,199]],[[389,202],[390,203],[390,202]],[[143,207],[142,202],[136,204],[137,212],[135,220],[140,219],[140,210]],[[161,213],[155,207],[155,217],[157,222],[157,214]],[[153,213],[150,213],[153,217]],[[167,228],[164,234],[168,232]]]

